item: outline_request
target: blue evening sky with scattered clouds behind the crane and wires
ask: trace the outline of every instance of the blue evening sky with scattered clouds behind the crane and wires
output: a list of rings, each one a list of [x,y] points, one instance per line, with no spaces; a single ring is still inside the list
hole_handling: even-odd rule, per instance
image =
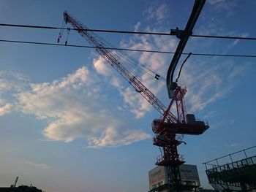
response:
[[[61,27],[67,10],[93,29],[168,33],[184,29],[193,2],[0,0],[0,23]],[[206,0],[193,34],[256,37],[255,6],[249,0]],[[56,43],[59,34],[0,30],[0,39],[18,41]],[[173,52],[178,45],[169,36],[98,34],[122,48]],[[68,38],[64,31],[61,43],[66,39],[88,45],[75,31]],[[254,41],[192,37],[184,52],[256,55],[255,48]],[[173,57],[126,53],[162,77]],[[203,162],[255,145],[255,73],[255,58],[192,55],[184,64],[178,83],[187,87],[188,108],[210,128],[185,136],[187,145],[178,152],[186,164],[197,165],[203,188],[211,188]],[[165,82],[140,75],[167,105]],[[148,171],[160,154],[152,145],[151,121],[161,115],[95,50],[0,42],[0,82],[0,186],[19,176],[18,185],[49,192],[148,191]]]

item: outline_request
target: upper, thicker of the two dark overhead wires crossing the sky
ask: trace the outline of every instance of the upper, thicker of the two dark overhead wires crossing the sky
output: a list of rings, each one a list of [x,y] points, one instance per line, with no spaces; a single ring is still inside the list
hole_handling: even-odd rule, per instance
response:
[[[58,29],[58,30],[74,30],[76,28],[61,28],[53,26],[30,26],[30,25],[17,25],[17,24],[5,24],[0,23],[0,26],[6,27],[20,27],[20,28],[43,28],[43,29]],[[103,29],[84,29],[85,31],[95,31],[95,32],[105,32],[105,33],[118,33],[118,34],[148,34],[148,35],[163,35],[163,36],[175,36],[176,33],[172,30],[169,34],[167,33],[158,33],[158,32],[140,32],[140,31],[118,31],[118,30],[103,30]],[[174,30],[175,31],[175,30]],[[256,37],[229,37],[229,36],[218,36],[218,35],[201,35],[201,34],[192,34],[191,37],[202,37],[202,38],[217,38],[217,39],[241,39],[241,40],[256,40]]]

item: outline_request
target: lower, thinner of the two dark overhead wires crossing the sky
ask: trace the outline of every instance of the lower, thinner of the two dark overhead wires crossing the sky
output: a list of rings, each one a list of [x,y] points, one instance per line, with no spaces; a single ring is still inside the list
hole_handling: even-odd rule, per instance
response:
[[[16,41],[16,40],[7,40],[0,39],[0,42],[9,42],[9,43],[21,43],[29,45],[51,45],[51,46],[61,46],[61,47],[82,47],[82,48],[97,48],[94,46],[87,45],[64,45],[57,43],[48,43],[48,42],[29,42],[29,41]],[[174,54],[170,51],[159,51],[159,50],[138,50],[138,49],[128,49],[128,48],[118,48],[118,47],[102,47],[110,50],[126,50],[126,51],[137,51],[137,52],[148,52],[148,53],[165,53],[165,54]],[[241,58],[256,58],[256,55],[238,55],[238,54],[216,54],[216,53],[182,53],[182,55],[198,55],[198,56],[220,56],[220,57],[241,57]]]

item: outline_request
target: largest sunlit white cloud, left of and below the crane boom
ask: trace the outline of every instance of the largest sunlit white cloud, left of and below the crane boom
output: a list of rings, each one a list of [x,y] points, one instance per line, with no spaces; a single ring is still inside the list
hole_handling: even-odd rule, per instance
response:
[[[86,67],[61,80],[31,84],[31,91],[17,95],[20,110],[48,120],[43,134],[48,139],[72,142],[86,139],[89,147],[129,145],[149,137],[130,128],[107,110],[102,84]],[[103,82],[105,83],[105,82]]]

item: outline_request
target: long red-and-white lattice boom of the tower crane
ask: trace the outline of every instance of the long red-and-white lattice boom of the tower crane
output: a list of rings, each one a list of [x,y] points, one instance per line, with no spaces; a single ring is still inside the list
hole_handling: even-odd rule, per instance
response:
[[[160,112],[161,115],[165,115],[167,107],[165,107],[165,105],[157,99],[157,96],[154,96],[154,94],[140,82],[138,77],[135,77],[135,75],[132,74],[121,61],[118,61],[118,58],[116,58],[113,53],[113,48],[111,49],[108,47],[101,38],[92,31],[89,31],[89,28],[80,23],[74,16],[70,15],[68,12],[64,12],[63,14],[66,23],[70,23],[90,45],[95,47],[97,53],[108,61],[108,64],[113,66],[113,68],[116,69],[116,71],[121,74],[121,76],[124,77],[124,79],[127,80],[129,84],[131,84],[132,87],[134,87],[135,90],[138,91],[138,93],[140,93],[158,112]],[[170,111],[167,112],[166,116],[166,118],[173,123],[179,121]]]

